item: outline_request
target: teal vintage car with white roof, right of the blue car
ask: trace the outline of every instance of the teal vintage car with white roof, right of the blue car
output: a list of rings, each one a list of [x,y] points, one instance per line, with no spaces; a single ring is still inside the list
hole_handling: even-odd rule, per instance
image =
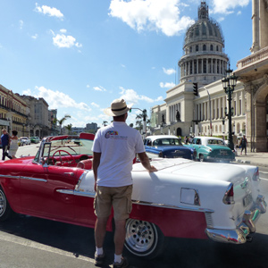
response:
[[[197,160],[212,162],[227,162],[235,160],[234,152],[227,147],[222,138],[195,137],[186,147],[195,148]]]

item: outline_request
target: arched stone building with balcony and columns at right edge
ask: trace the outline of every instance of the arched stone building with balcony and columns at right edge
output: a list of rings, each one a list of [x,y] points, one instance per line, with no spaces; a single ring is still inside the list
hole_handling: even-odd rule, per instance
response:
[[[268,1],[252,1],[251,54],[237,63],[247,106],[247,141],[252,151],[268,151]]]

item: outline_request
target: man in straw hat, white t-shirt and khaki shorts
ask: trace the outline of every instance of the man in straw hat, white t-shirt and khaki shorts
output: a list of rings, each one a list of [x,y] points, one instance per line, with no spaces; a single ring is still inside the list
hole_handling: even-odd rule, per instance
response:
[[[132,208],[131,170],[135,155],[138,154],[140,162],[148,172],[157,171],[149,162],[138,130],[126,124],[129,111],[130,107],[123,99],[115,99],[111,107],[105,109],[105,114],[113,116],[113,122],[96,132],[92,147],[96,191],[94,201],[96,266],[104,264],[103,244],[106,223],[113,206],[115,223],[113,268],[128,267],[127,259],[122,257],[122,249],[126,235],[125,224]]]

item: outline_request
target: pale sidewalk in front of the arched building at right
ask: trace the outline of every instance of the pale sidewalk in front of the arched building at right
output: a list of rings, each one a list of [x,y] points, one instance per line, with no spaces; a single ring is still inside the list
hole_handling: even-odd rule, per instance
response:
[[[240,151],[241,150],[238,149],[238,155],[236,156],[237,163],[248,163],[268,167],[268,152],[254,153],[247,150],[247,155],[245,155],[245,152],[243,152],[243,155],[240,155]]]

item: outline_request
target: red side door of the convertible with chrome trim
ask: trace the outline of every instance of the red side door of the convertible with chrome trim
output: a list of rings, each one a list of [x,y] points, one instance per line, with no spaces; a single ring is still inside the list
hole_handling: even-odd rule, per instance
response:
[[[21,210],[34,216],[71,221],[76,183],[74,168],[27,165],[21,175]]]

